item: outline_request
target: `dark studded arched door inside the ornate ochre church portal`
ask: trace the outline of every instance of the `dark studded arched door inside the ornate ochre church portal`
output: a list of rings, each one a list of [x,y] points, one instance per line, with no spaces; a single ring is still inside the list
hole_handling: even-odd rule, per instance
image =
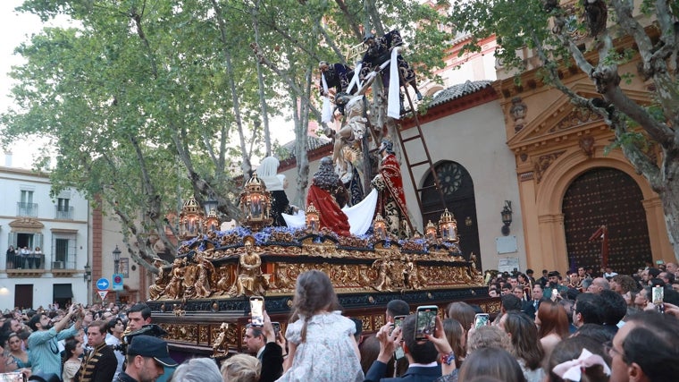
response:
[[[601,225],[608,228],[608,265],[630,275],[652,261],[641,189],[615,168],[597,167],[574,179],[563,199],[566,249],[571,270],[601,267],[601,241],[590,241]]]

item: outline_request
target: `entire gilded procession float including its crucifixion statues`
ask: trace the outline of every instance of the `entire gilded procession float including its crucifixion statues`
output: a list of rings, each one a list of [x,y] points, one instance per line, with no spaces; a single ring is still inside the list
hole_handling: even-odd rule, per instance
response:
[[[413,311],[435,304],[440,314],[451,301],[474,303],[489,313],[499,310],[499,300],[488,297],[476,256],[462,256],[457,222],[447,208],[438,225],[430,221],[423,234],[415,233],[393,140],[381,139],[377,133],[383,129],[366,118],[365,90],[375,76],[381,77],[390,89],[392,119],[403,107],[401,86],[410,85],[421,96],[415,74],[398,55],[402,41],[397,30],[381,38],[366,35],[364,44],[364,59],[355,69],[319,64],[323,115],[334,113],[329,99],[329,88],[334,88],[332,102],[343,123],[329,134],[332,156],[321,159],[305,208],[290,210],[274,157],[264,158],[244,184],[239,226],[222,230],[214,209],[205,216],[196,199],[184,203],[179,222],[184,242],[172,267],[156,263],[159,274],[147,302],[174,352],[219,358],[240,351],[252,296],[264,297],[265,310],[284,333],[298,275],[311,269],[331,278],[343,314],[359,318],[366,333],[385,324],[386,305],[394,299],[407,301]],[[386,73],[401,81],[386,83]],[[365,187],[373,190],[354,199],[358,184],[345,175],[356,174],[359,166],[352,169],[346,153],[367,152],[368,138],[381,157],[379,170]]]

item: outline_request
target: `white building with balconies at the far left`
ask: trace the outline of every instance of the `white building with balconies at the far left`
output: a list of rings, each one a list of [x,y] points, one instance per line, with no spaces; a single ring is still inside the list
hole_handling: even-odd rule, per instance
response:
[[[46,174],[0,166],[0,308],[87,303],[89,204],[79,192],[50,196]],[[24,247],[42,254],[8,253]],[[21,250],[17,250],[20,255]]]

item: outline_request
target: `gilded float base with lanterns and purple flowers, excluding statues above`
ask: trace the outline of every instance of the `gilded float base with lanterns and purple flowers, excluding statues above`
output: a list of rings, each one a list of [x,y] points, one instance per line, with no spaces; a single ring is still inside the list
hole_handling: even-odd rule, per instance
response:
[[[488,298],[476,259],[463,259],[455,236],[456,221],[445,211],[424,237],[398,239],[376,216],[368,233],[348,236],[319,225],[323,213],[306,208],[305,226],[272,226],[272,197],[254,175],[241,194],[245,219],[220,231],[214,209],[207,216],[196,199],[180,214],[182,242],[172,267],[160,262],[147,304],[175,352],[223,357],[239,351],[250,320],[249,297],[263,296],[272,321],[285,330],[297,276],[318,269],[330,276],[343,314],[361,319],[365,332],[385,323],[393,299],[440,306],[451,301],[475,303],[488,312],[499,301]],[[442,236],[437,232],[444,233]]]

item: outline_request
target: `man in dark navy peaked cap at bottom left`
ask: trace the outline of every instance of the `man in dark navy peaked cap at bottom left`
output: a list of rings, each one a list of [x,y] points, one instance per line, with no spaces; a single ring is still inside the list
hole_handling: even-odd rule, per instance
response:
[[[177,367],[167,343],[151,335],[137,335],[128,346],[127,368],[115,382],[155,382],[163,375],[164,367]]]

